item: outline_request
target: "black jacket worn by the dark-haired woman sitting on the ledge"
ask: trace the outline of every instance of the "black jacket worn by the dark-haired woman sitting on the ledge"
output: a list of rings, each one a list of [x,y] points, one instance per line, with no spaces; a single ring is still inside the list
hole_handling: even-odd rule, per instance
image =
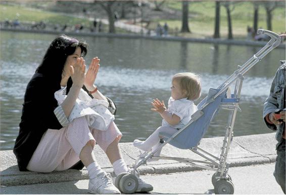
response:
[[[61,87],[51,82],[53,80],[47,79],[43,74],[35,73],[27,85],[19,135],[13,149],[20,171],[27,171],[26,167],[44,132],[63,127],[54,114],[54,109],[58,107],[54,93]],[[67,88],[71,85],[69,82]]]

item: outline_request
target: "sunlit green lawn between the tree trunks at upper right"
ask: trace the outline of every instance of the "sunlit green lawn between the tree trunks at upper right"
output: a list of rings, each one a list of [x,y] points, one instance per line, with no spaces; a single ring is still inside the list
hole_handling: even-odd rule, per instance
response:
[[[181,2],[168,1],[166,7],[181,12]],[[231,7],[232,8],[232,7]],[[237,38],[245,37],[247,34],[247,26],[253,26],[253,3],[236,2],[231,12],[232,32]],[[194,36],[212,36],[214,33],[214,16],[215,2],[189,2],[189,28]],[[276,8],[272,12],[272,31],[280,33],[285,31],[285,8]],[[266,11],[265,8],[259,6],[258,26],[266,29]],[[164,24],[167,22],[171,29],[176,27],[180,29],[180,20],[164,20],[160,19],[156,22]],[[222,37],[227,36],[227,14],[226,9],[221,6],[220,9],[220,33]]]

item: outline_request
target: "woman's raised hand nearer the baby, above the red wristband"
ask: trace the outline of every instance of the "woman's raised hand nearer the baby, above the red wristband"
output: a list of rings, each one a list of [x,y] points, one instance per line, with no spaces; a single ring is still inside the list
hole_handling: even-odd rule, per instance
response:
[[[93,58],[85,74],[84,86],[89,91],[92,91],[94,88],[93,84],[96,81],[97,74],[100,68],[99,63],[100,63],[100,59],[98,57]]]

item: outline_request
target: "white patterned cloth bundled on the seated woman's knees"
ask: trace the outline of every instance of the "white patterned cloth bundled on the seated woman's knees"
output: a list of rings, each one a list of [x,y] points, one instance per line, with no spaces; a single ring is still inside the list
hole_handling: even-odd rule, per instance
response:
[[[55,92],[55,98],[61,105],[66,99],[66,87],[62,87]],[[68,117],[69,122],[85,116],[90,127],[105,131],[111,122],[114,121],[114,115],[108,109],[109,103],[105,100],[92,99],[83,89],[80,89],[75,105]]]

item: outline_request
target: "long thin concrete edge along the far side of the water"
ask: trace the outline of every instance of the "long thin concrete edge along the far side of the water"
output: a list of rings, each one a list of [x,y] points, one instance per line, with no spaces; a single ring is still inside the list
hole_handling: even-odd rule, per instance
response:
[[[194,43],[214,43],[224,45],[242,45],[242,46],[254,46],[263,47],[267,42],[264,41],[247,41],[247,40],[227,40],[222,38],[186,38],[180,36],[148,36],[140,34],[117,34],[107,32],[65,32],[54,30],[32,30],[32,29],[20,29],[20,28],[5,28],[1,27],[3,31],[13,32],[28,32],[28,33],[46,33],[46,34],[67,34],[70,36],[95,36],[95,37],[114,37],[114,38],[145,38],[148,40],[163,40],[163,41],[185,41]],[[281,43],[277,48],[285,49],[285,44]]]

